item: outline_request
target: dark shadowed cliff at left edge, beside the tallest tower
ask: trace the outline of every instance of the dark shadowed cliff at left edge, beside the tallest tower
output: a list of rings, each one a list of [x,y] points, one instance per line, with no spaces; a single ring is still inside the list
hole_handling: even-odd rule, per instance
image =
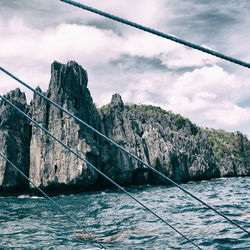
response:
[[[24,112],[28,111],[25,94],[19,89],[5,96]],[[30,126],[28,121],[9,104],[0,101],[0,152],[26,175],[29,172]],[[25,190],[28,183],[0,157],[0,191]]]

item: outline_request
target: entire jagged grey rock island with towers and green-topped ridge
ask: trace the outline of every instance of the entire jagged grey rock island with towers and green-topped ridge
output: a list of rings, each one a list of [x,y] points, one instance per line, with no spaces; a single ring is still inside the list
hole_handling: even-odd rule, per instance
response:
[[[228,134],[227,141],[233,141],[239,150],[236,154],[223,149],[222,155],[214,143],[214,137],[220,137],[217,132],[200,129],[188,119],[159,107],[124,105],[121,96],[115,94],[110,104],[97,110],[87,88],[87,73],[75,62],[54,62],[49,90],[43,94],[177,182],[250,174],[250,142],[246,137],[237,134],[235,140]],[[38,95],[34,95],[29,106],[18,89],[7,98],[116,182],[163,183],[145,166]],[[3,102],[0,125],[1,152],[41,188],[65,192],[107,184],[93,169]],[[0,191],[25,188],[24,183],[27,182],[0,159]]]

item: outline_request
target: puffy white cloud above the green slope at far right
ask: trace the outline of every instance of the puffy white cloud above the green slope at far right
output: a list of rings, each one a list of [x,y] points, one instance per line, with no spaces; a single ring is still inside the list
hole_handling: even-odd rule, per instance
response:
[[[241,78],[219,66],[205,66],[177,76],[164,88],[156,86],[152,93],[165,98],[166,109],[200,125],[207,122],[215,127],[233,129],[250,122],[250,109],[235,104],[245,91],[248,87]]]

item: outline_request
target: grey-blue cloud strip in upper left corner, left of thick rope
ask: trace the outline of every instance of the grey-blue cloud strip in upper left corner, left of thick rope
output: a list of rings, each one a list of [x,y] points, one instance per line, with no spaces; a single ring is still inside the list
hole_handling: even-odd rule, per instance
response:
[[[111,20],[99,17],[59,0],[1,0],[0,15],[8,21],[13,17],[21,18],[26,25],[45,29],[61,23],[94,26],[121,34],[126,27]]]

